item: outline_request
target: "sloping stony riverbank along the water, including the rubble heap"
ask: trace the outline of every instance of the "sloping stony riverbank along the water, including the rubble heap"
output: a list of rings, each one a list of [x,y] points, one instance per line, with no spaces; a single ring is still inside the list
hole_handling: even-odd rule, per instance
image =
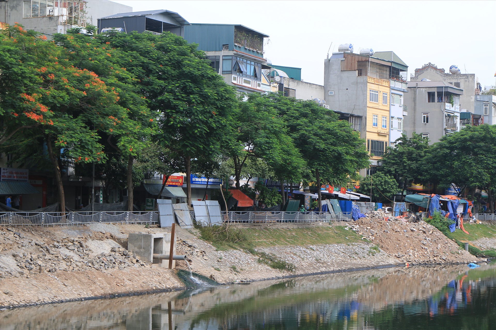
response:
[[[219,251],[195,235],[176,228],[177,253],[186,254],[193,272],[219,283],[239,283],[286,276],[339,272],[384,265],[468,263],[476,258],[426,224],[384,221],[372,213],[357,222],[337,223],[355,231],[363,242],[305,246],[273,245]],[[257,226],[266,226],[263,224]],[[300,226],[301,225],[296,225]],[[316,233],[319,226],[309,225]],[[277,228],[277,226],[274,226]],[[282,231],[291,231],[286,225]],[[127,235],[167,232],[140,225],[92,224],[82,227],[0,227],[0,306],[116,296],[183,287],[176,270],[143,262],[127,250]],[[366,239],[365,239],[366,238]],[[260,255],[293,265],[293,271],[271,268]],[[187,269],[184,261],[178,269]]]

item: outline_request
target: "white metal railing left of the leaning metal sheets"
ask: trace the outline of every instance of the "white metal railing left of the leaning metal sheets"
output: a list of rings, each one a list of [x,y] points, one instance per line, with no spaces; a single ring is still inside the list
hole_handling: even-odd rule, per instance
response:
[[[93,223],[158,224],[157,211],[0,212],[0,226],[76,226]]]

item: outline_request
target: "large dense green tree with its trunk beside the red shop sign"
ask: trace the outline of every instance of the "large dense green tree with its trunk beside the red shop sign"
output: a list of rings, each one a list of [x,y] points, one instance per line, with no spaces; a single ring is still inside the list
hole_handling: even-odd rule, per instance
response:
[[[172,33],[122,33],[99,40],[122,51],[119,66],[136,77],[148,108],[158,113],[155,140],[181,155],[189,178],[191,159],[218,153],[225,144],[234,89],[209,66],[204,52]],[[186,185],[190,204],[189,180]]]

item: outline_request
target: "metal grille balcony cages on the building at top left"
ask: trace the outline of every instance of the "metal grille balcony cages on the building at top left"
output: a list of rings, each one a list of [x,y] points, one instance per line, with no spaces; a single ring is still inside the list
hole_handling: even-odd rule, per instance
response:
[[[86,26],[84,0],[23,0],[23,18],[58,16],[59,25]]]

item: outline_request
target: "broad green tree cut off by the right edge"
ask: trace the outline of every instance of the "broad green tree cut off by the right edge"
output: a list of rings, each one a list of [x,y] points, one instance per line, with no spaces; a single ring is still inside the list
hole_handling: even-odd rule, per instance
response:
[[[488,192],[488,205],[495,210],[496,126],[468,126],[433,144],[424,161],[426,176],[440,186],[480,188]]]

